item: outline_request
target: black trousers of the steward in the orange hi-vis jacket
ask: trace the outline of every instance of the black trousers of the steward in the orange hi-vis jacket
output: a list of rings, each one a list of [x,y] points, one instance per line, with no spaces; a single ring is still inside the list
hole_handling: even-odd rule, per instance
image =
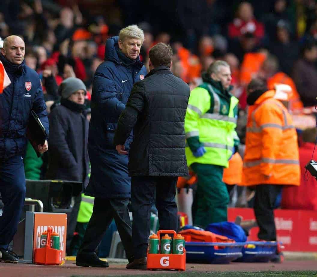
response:
[[[276,229],[274,222],[274,204],[281,185],[257,185],[254,201],[254,213],[260,228],[258,238],[266,241],[276,241]]]

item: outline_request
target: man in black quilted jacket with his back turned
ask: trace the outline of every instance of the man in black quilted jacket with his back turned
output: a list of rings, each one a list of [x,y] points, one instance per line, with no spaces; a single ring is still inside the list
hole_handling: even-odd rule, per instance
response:
[[[177,231],[175,202],[178,176],[187,176],[184,119],[189,86],[170,71],[173,51],[158,43],[149,52],[150,73],[133,85],[114,136],[120,154],[129,154],[132,176],[134,261],[129,269],[146,269],[150,211],[155,199],[162,230]],[[134,129],[129,153],[124,143]]]

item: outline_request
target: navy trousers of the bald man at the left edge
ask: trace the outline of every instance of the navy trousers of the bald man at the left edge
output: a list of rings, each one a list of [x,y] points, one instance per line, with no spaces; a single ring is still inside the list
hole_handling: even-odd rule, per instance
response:
[[[0,217],[0,248],[7,249],[16,233],[25,200],[25,173],[21,156],[0,159],[0,193],[4,203]]]

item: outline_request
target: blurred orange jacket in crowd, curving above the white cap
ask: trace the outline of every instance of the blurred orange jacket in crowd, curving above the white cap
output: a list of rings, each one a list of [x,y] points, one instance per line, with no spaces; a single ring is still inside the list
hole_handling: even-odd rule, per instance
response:
[[[288,98],[290,104],[289,108],[291,111],[300,111],[303,109],[304,105],[303,102],[301,102],[301,98],[297,92],[296,85],[293,79],[288,77],[288,75],[286,75],[284,72],[277,72],[275,75],[268,79],[268,89],[273,90],[275,84],[285,84],[289,85],[292,88],[292,94]]]

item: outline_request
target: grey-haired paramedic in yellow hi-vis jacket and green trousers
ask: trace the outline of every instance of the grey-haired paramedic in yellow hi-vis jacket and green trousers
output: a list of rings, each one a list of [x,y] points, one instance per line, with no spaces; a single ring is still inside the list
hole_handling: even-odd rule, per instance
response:
[[[230,94],[231,71],[215,61],[202,75],[204,83],[191,91],[185,117],[187,164],[198,176],[192,207],[194,225],[227,221],[229,194],[223,168],[235,153],[238,99]]]

